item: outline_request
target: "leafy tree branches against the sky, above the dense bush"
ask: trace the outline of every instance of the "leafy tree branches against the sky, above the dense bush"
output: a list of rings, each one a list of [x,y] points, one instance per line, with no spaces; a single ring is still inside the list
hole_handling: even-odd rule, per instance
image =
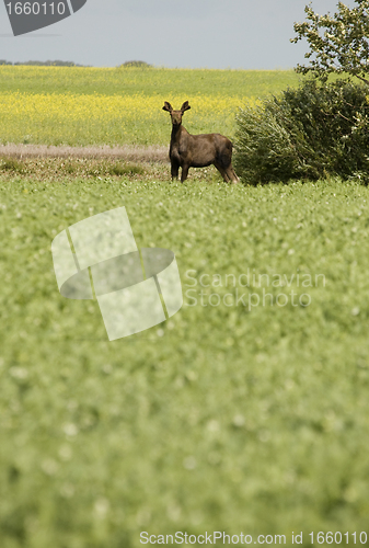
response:
[[[319,15],[311,3],[305,5],[307,21],[295,23],[297,36],[290,42],[308,41],[310,52],[304,57],[310,64],[297,65],[297,72],[311,72],[322,81],[332,72],[346,73],[369,85],[369,0],[355,3],[357,7],[349,9],[338,2],[333,16]]]

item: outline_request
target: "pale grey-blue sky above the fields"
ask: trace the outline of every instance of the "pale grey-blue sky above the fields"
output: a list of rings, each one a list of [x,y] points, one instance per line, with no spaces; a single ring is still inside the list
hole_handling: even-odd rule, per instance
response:
[[[289,42],[293,22],[305,19],[307,0],[87,0],[67,19],[21,36],[12,35],[7,2],[0,4],[0,59],[12,62],[289,69],[308,50],[305,43]],[[336,5],[312,1],[320,14]]]

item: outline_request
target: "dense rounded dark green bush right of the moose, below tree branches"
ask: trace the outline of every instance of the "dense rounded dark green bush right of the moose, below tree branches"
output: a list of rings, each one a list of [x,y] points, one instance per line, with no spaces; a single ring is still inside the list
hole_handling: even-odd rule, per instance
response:
[[[240,110],[234,164],[249,184],[369,175],[369,90],[308,80]]]

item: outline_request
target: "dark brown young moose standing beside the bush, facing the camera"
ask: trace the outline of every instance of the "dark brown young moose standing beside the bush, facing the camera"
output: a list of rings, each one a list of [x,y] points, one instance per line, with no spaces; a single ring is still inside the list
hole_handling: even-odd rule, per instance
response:
[[[237,183],[239,178],[232,168],[232,142],[220,134],[191,135],[182,125],[182,116],[191,109],[185,101],[180,111],[164,101],[163,111],[172,118],[172,135],[169,157],[171,159],[172,180],[177,179],[182,168],[182,183],[187,179],[189,168],[215,165],[226,183]]]

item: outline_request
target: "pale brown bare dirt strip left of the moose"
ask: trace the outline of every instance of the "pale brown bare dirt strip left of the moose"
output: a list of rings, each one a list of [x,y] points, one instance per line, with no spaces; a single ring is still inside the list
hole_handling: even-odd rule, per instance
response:
[[[66,147],[47,145],[0,145],[0,156],[13,158],[114,158],[126,161],[169,162],[169,147],[124,145],[122,147]]]

